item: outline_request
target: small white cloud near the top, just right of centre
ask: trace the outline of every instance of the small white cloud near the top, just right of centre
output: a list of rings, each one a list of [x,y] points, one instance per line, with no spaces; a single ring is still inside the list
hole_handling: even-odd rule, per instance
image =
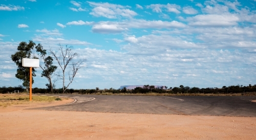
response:
[[[176,14],[179,14],[180,11],[180,6],[175,5],[175,4],[167,4],[167,5],[162,5],[162,4],[152,4],[149,6],[146,6],[147,9],[152,9],[153,12],[156,13],[162,13],[162,9],[164,8],[167,12],[174,12]]]

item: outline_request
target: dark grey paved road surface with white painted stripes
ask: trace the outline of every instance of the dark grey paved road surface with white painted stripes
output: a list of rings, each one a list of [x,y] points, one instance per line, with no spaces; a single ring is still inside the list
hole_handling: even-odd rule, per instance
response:
[[[255,96],[56,95],[75,102],[35,109],[103,113],[181,114],[256,117]]]

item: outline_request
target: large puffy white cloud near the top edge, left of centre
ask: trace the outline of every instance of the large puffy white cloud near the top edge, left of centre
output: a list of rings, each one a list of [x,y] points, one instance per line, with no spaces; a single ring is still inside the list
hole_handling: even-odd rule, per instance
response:
[[[106,18],[119,18],[119,17],[128,17],[132,18],[136,16],[137,13],[130,10],[125,9],[126,7],[121,5],[109,4],[109,3],[95,3],[95,2],[88,2],[90,6],[95,7],[93,8],[92,12],[90,13],[96,17],[106,17]]]

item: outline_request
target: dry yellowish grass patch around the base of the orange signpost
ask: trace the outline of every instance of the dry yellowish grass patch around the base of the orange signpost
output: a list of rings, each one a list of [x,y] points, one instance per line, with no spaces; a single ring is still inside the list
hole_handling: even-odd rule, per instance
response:
[[[32,101],[29,101],[29,95],[6,95],[0,94],[0,106],[7,107],[9,105],[27,104],[33,102],[52,102],[57,97],[52,96],[32,96]],[[63,98],[64,99],[64,98]]]

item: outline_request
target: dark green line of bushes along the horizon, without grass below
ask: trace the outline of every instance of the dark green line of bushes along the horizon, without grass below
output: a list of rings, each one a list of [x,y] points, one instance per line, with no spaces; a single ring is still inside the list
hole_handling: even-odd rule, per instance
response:
[[[126,88],[123,89],[104,89],[100,90],[99,88],[95,89],[67,89],[66,87],[64,88],[65,93],[77,93],[77,94],[95,94],[95,93],[113,93],[113,94],[118,94],[118,93],[131,93],[131,94],[136,94],[136,93],[169,93],[169,94],[182,94],[182,93],[188,93],[188,94],[193,94],[193,93],[203,93],[203,94],[233,94],[233,93],[250,93],[250,92],[256,92],[256,85],[249,85],[249,86],[243,86],[243,85],[237,85],[237,86],[223,86],[222,88],[197,88],[193,87],[190,88],[188,86],[184,87],[183,85],[180,85],[180,87],[160,87],[160,88],[155,88],[155,86],[149,86],[149,85],[144,85],[143,88],[137,87],[132,90],[127,90]],[[17,86],[17,87],[0,87],[0,93],[11,93],[14,91],[19,91],[19,92],[26,92],[26,87],[24,86]],[[41,94],[46,94],[46,93],[63,93],[63,88],[59,89],[42,89],[42,88],[33,88],[32,89],[33,93],[41,93]]]

